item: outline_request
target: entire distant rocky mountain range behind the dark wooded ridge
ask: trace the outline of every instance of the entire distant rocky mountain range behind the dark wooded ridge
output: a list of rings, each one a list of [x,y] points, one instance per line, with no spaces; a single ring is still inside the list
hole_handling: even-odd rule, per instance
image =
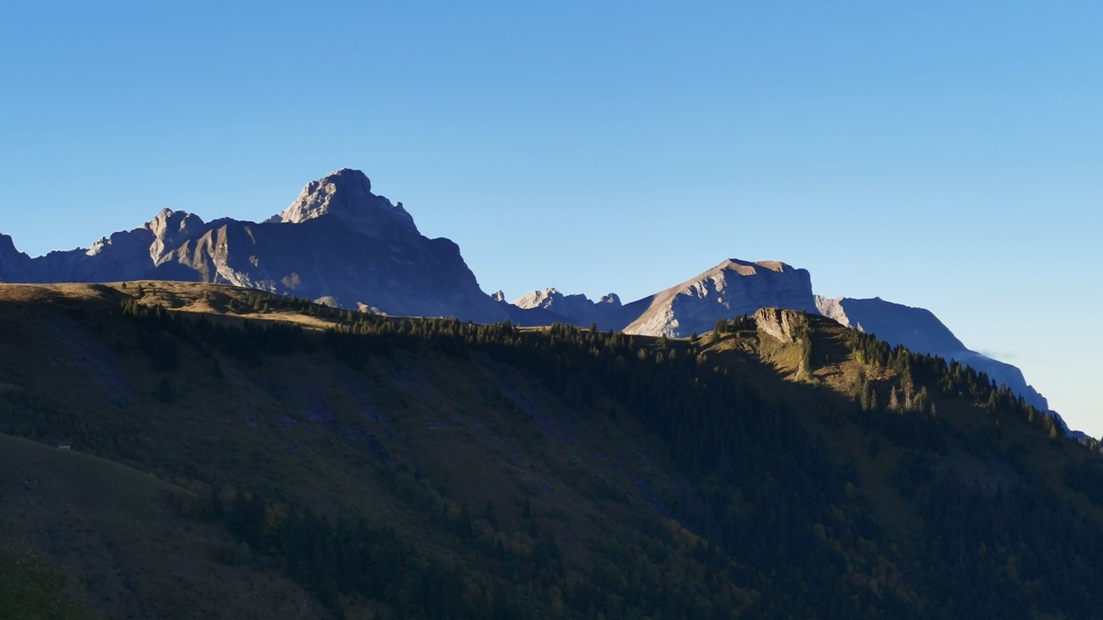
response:
[[[703,334],[720,318],[759,308],[788,308],[823,314],[918,353],[956,360],[1007,385],[1039,410],[1049,409],[1019,368],[970,350],[930,311],[879,298],[817,296],[806,269],[774,260],[730,258],[629,303],[615,293],[592,301],[554,288],[510,303],[501,291],[484,293],[454,243],[421,235],[403,203],[372,193],[371,180],[358,170],[341,169],[308,183],[287,209],[260,223],[228,217],[203,222],[165,209],[88,248],[35,258],[0,234],[3,282],[147,279],[228,284],[388,316],[596,324],[671,338]]]

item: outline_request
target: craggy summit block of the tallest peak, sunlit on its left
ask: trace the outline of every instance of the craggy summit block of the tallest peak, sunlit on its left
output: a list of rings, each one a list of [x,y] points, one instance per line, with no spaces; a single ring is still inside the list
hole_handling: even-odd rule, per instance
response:
[[[346,220],[362,232],[374,233],[387,224],[416,233],[414,218],[403,203],[372,193],[372,181],[360,170],[342,168],[302,189],[298,200],[266,223],[299,224],[323,215]]]

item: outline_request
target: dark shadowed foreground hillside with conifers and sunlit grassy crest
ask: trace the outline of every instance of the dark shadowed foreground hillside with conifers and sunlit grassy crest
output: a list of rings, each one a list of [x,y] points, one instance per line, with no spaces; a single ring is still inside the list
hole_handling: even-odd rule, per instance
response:
[[[0,432],[40,443],[0,438],[0,549],[57,618],[1100,616],[1094,446],[768,314],[675,340],[0,286]]]

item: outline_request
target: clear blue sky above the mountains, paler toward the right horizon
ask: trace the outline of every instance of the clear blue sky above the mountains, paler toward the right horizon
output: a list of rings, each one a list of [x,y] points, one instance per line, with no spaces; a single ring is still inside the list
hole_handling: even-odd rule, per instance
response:
[[[364,170],[486,291],[724,258],[929,308],[1103,435],[1103,3],[8,2],[0,232]]]

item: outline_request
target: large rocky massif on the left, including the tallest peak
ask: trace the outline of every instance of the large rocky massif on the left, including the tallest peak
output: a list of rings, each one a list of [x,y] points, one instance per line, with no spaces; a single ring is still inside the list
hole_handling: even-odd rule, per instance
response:
[[[488,322],[508,316],[479,288],[454,243],[426,238],[400,203],[371,188],[363,172],[342,169],[308,183],[264,223],[205,223],[163,210],[88,249],[39,258],[0,237],[0,281],[206,281],[396,316]]]

